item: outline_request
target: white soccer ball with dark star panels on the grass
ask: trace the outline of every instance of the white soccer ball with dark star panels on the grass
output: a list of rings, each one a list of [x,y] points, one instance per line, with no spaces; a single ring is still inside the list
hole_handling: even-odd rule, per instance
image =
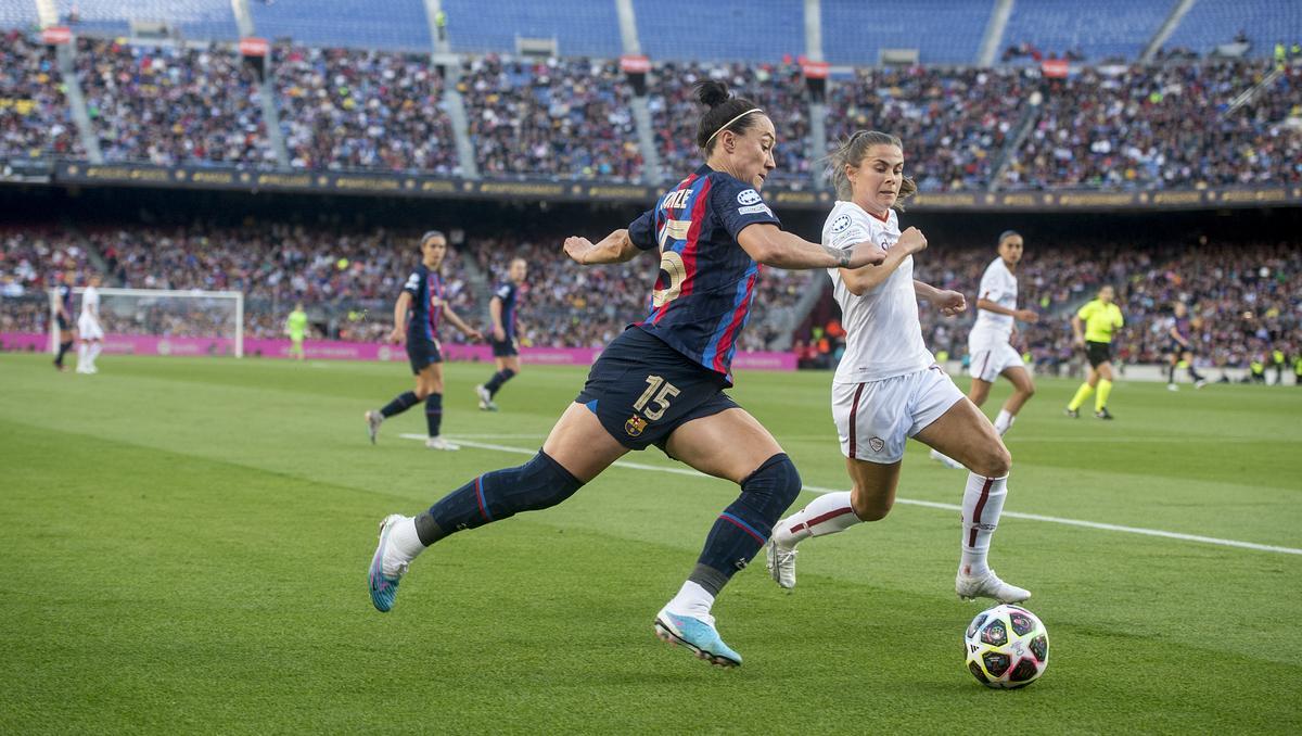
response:
[[[967,670],[991,688],[1025,688],[1049,663],[1049,632],[1021,606],[995,606],[976,614],[963,636]]]

